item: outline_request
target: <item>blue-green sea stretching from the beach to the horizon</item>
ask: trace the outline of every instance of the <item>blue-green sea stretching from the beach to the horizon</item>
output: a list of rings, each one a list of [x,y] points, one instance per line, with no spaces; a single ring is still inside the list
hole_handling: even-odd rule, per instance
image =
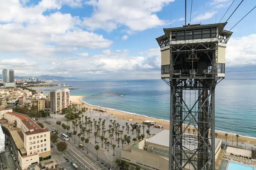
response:
[[[70,90],[70,95],[85,96],[82,101],[87,104],[169,120],[170,87],[163,80],[75,80],[64,83],[72,86],[69,88],[76,88]],[[256,137],[255,87],[256,79],[224,79],[217,84],[216,130],[232,133],[234,129],[235,134]],[[60,87],[50,87],[53,88]],[[49,94],[47,90],[43,92]],[[185,95],[186,103],[192,107],[195,92],[186,91]]]

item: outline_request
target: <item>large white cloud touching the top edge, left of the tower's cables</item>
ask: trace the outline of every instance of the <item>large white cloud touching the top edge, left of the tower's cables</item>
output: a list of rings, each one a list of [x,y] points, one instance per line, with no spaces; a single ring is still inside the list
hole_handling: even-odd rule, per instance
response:
[[[104,29],[108,32],[119,26],[128,26],[132,31],[143,31],[166,24],[156,12],[174,0],[89,0],[93,6],[92,17],[84,18],[83,25],[89,30]]]

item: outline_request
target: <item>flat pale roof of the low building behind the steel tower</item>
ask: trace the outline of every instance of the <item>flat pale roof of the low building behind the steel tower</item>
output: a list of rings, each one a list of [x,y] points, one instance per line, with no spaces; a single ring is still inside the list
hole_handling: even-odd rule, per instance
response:
[[[163,130],[163,131],[159,132],[158,134],[154,135],[153,137],[149,138],[148,140],[146,140],[146,142],[169,147],[169,136],[170,136],[169,133],[170,133],[169,130]],[[192,134],[190,134],[190,135],[192,135]],[[197,141],[194,141],[194,138],[185,138],[184,140],[186,140],[187,142],[191,142],[191,143],[197,143]],[[219,142],[220,142],[219,139],[215,139],[215,149],[217,148]],[[211,143],[211,141],[210,141],[210,143]],[[188,148],[189,150],[194,150],[197,148],[197,145],[183,144],[183,146],[185,148]]]

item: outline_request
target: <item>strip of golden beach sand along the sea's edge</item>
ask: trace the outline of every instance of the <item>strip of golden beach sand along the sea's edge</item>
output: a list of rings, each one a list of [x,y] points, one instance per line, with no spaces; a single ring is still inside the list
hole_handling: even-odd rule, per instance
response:
[[[88,110],[93,109],[93,108],[101,108],[101,107],[91,106],[91,105],[83,103],[80,100],[83,97],[84,96],[70,96],[70,101],[72,103],[76,103],[78,105],[80,104],[81,107],[86,107],[86,108],[88,108]],[[122,111],[110,110],[110,109],[105,109],[105,108],[101,108],[101,109],[106,110],[108,114],[115,115],[115,118],[117,118],[117,119],[125,119],[125,120],[132,119],[131,122],[137,122],[137,123],[142,123],[145,120],[152,120],[152,121],[156,122],[157,125],[163,126],[163,129],[169,129],[170,123],[168,121],[165,121],[165,120],[159,120],[159,119],[155,119],[155,118],[150,118],[150,117],[140,116],[140,115],[136,115],[136,114],[125,113],[125,112],[122,112]],[[193,134],[193,129],[194,129],[194,126],[190,126],[190,134]],[[188,130],[186,130],[186,133],[189,133]],[[218,139],[226,141],[225,132],[215,131],[215,133],[218,134],[217,135]],[[195,134],[197,135],[196,131],[195,131]],[[232,134],[228,134],[227,141],[232,141]],[[233,136],[233,142],[234,142],[234,144],[236,144],[236,134],[234,134],[234,136]],[[254,138],[244,137],[244,136],[240,136],[238,138],[238,143],[245,143],[245,142],[256,145],[256,139],[254,139]]]

